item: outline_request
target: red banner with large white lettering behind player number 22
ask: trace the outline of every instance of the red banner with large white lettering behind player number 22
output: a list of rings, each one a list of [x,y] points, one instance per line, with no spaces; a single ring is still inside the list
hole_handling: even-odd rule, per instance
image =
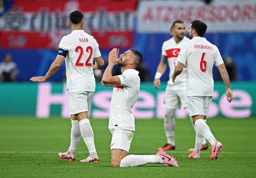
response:
[[[84,30],[100,48],[133,46],[133,18],[137,0],[16,0],[0,18],[0,46],[58,48],[71,32],[69,14],[84,14]]]

